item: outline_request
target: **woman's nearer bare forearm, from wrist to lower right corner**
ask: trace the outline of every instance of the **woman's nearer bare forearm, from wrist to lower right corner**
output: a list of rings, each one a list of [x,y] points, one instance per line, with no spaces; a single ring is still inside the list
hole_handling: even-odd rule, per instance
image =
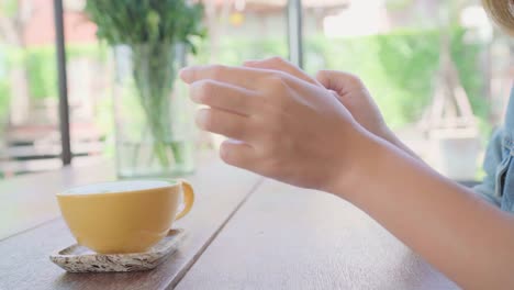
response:
[[[514,219],[391,144],[370,138],[370,158],[362,160],[367,171],[357,170],[336,194],[466,289],[514,289]]]

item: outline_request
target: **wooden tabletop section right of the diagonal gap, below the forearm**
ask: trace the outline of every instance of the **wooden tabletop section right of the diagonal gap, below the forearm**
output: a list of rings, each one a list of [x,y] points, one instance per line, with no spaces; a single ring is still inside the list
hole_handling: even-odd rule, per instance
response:
[[[177,289],[457,286],[351,204],[266,180]]]

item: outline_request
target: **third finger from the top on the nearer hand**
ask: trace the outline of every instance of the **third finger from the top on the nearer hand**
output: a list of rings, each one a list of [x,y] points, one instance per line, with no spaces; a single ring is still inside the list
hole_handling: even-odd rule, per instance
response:
[[[197,113],[197,125],[215,134],[248,141],[252,136],[252,120],[217,109],[201,109]]]

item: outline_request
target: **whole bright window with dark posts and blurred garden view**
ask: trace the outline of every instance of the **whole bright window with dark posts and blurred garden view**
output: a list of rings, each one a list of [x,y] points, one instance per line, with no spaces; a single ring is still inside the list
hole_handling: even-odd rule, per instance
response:
[[[191,63],[241,65],[295,48],[288,5],[300,1],[203,2],[210,36]],[[2,178],[62,166],[53,3],[0,0]],[[83,4],[64,1],[74,164],[114,155],[110,49]],[[506,108],[514,46],[480,1],[303,0],[301,11],[308,72],[359,75],[388,124],[425,160],[455,179],[481,178],[487,141]]]

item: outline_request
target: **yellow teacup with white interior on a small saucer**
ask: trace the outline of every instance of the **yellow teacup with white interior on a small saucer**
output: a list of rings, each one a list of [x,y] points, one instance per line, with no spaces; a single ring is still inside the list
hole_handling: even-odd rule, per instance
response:
[[[183,180],[113,181],[69,189],[57,201],[80,245],[101,254],[141,253],[191,210],[194,193]]]

